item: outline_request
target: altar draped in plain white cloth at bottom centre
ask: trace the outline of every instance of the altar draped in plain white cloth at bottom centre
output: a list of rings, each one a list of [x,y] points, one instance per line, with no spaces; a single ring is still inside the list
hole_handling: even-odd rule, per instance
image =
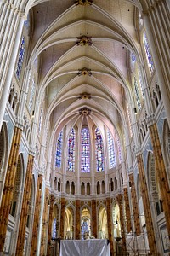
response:
[[[108,240],[61,240],[59,256],[111,256]]]

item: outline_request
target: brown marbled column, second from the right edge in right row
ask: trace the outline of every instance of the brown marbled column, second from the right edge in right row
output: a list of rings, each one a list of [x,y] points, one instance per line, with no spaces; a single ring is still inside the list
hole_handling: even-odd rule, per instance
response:
[[[138,168],[139,168],[140,188],[141,188],[141,194],[142,194],[143,203],[144,203],[144,216],[145,216],[146,230],[148,234],[148,241],[149,241],[149,247],[150,247],[150,256],[157,256],[158,253],[156,249],[154,226],[153,226],[151,212],[150,212],[148,188],[147,188],[146,178],[144,174],[144,162],[141,154],[137,155],[137,161],[138,161]]]

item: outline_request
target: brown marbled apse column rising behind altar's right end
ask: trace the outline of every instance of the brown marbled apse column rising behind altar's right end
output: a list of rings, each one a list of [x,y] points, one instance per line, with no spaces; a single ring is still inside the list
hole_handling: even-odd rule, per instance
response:
[[[108,225],[108,238],[111,246],[111,256],[114,255],[114,245],[113,245],[113,232],[112,232],[112,214],[111,214],[111,198],[106,198],[106,208],[107,208],[107,225]]]

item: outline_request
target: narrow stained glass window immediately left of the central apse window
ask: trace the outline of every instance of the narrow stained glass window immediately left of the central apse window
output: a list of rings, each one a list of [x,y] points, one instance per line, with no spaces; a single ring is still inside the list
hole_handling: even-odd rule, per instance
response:
[[[76,146],[76,131],[71,129],[71,133],[68,139],[68,171],[75,171],[75,146]]]

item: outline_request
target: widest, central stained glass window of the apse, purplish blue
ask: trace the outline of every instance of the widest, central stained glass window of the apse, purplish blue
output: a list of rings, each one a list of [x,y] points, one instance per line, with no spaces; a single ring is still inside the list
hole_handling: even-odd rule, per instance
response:
[[[90,172],[90,134],[88,128],[81,131],[81,172]]]

